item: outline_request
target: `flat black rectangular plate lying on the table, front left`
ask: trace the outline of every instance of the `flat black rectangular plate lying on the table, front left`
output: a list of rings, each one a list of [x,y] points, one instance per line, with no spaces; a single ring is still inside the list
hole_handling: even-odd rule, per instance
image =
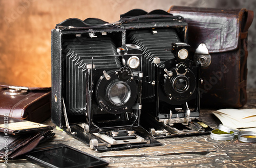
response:
[[[44,167],[102,167],[109,165],[109,162],[99,157],[79,151],[63,143],[57,145],[37,148],[28,153],[28,160],[31,160]]]

